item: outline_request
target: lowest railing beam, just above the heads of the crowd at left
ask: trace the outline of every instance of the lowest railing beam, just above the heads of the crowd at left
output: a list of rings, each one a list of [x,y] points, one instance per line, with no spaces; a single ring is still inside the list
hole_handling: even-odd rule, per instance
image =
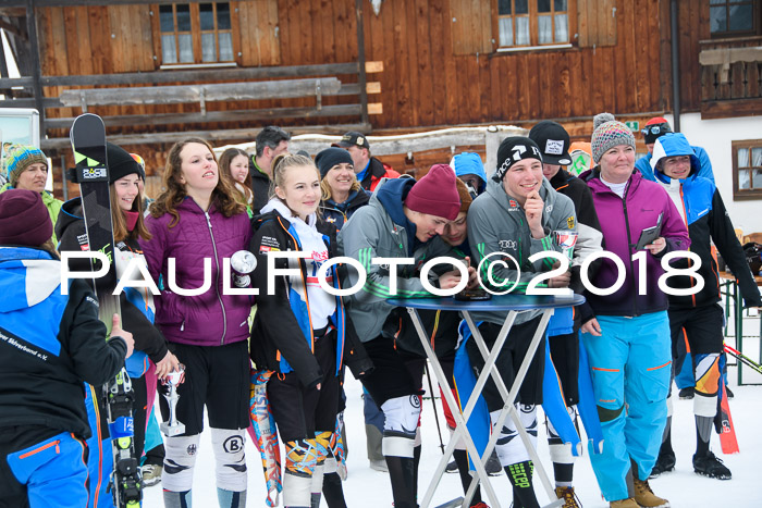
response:
[[[304,133],[321,133],[334,134],[336,136],[346,133],[347,131],[370,131],[369,124],[340,124],[340,125],[315,125],[303,127],[288,127],[293,134]],[[109,141],[120,145],[153,145],[163,143],[176,143],[189,137],[200,137],[209,141],[248,139],[257,137],[261,131],[256,128],[233,128],[233,129],[217,129],[217,131],[188,131],[182,133],[151,133],[151,134],[126,134],[121,136],[108,136]],[[71,148],[71,141],[65,138],[48,138],[40,140],[42,150],[59,150]],[[323,147],[325,148],[325,147]]]

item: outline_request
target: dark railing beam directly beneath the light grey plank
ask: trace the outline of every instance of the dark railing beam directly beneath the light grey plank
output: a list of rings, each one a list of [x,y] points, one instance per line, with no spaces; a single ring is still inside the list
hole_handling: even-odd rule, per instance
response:
[[[272,108],[267,110],[207,111],[206,115],[198,112],[168,114],[126,114],[120,116],[103,116],[107,127],[128,127],[133,125],[171,125],[198,124],[208,122],[244,122],[249,120],[270,119],[311,119],[320,116],[359,116],[359,104],[323,106],[317,108]],[[48,119],[46,127],[70,128],[73,117]]]

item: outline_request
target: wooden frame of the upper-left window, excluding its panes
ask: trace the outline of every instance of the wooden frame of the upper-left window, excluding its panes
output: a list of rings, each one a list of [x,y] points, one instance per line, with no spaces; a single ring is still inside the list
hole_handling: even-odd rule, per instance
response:
[[[212,5],[212,18],[214,22],[214,26],[212,29],[207,29],[207,30],[201,30],[201,15],[200,15],[200,5],[201,3],[204,4],[211,4]],[[230,28],[226,29],[220,29],[219,28],[219,20],[218,20],[218,7],[219,4],[226,3],[228,9],[229,9],[229,16],[230,16]],[[205,1],[205,2],[188,2],[188,3],[183,3],[183,2],[173,2],[173,3],[162,3],[162,4],[152,4],[151,5],[151,12],[152,12],[152,17],[153,17],[153,34],[155,34],[155,54],[158,60],[158,66],[160,69],[187,69],[187,67],[205,67],[205,66],[230,66],[230,65],[236,65],[239,64],[239,59],[241,59],[241,53],[239,53],[239,42],[238,42],[238,23],[237,23],[237,17],[234,15],[237,12],[236,8],[237,2],[233,1]],[[173,28],[174,30],[172,33],[170,32],[162,32],[161,30],[161,8],[163,7],[171,7],[172,8],[172,14],[173,14]],[[193,62],[181,62],[180,61],[180,39],[179,35],[181,34],[188,34],[186,30],[179,30],[177,29],[177,7],[187,7],[189,10],[189,16],[190,16],[190,41],[192,41],[192,51],[193,51]],[[164,62],[164,52],[163,52],[163,44],[162,44],[162,38],[165,35],[174,35],[174,40],[175,40],[175,52],[176,52],[176,61],[172,63]],[[213,40],[214,40],[214,53],[216,53],[216,59],[212,61],[204,61],[204,45],[202,45],[202,35],[206,34],[213,34]],[[222,60],[220,55],[220,34],[230,34],[231,37],[231,50],[232,50],[232,59],[231,60]]]

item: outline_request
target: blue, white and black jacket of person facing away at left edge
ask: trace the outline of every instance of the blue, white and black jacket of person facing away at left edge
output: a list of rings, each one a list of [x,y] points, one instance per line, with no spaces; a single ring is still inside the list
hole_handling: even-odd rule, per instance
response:
[[[61,294],[61,261],[44,250],[0,247],[0,428],[89,437],[83,381],[101,385],[116,375],[126,343],[106,342],[87,283],[73,280]]]

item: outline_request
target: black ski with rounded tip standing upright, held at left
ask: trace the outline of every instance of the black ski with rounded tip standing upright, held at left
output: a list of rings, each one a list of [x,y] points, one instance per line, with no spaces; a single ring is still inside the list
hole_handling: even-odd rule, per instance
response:
[[[113,227],[111,223],[111,200],[109,193],[109,170],[106,156],[106,127],[100,116],[85,113],[77,116],[69,133],[74,151],[74,168],[69,177],[79,184],[82,210],[87,232],[87,245],[90,251],[99,251],[109,260],[108,272],[94,281],[98,298],[100,320],[111,332],[111,318],[120,314],[119,296],[112,295],[116,286],[116,267],[114,265]],[[90,259],[94,271],[97,263]],[[120,314],[121,315],[121,314]],[[114,506],[136,508],[143,498],[140,468],[135,457],[133,444],[133,391],[130,376],[124,367],[116,376],[103,385],[103,404],[106,406],[114,469],[111,472],[109,488]]]

